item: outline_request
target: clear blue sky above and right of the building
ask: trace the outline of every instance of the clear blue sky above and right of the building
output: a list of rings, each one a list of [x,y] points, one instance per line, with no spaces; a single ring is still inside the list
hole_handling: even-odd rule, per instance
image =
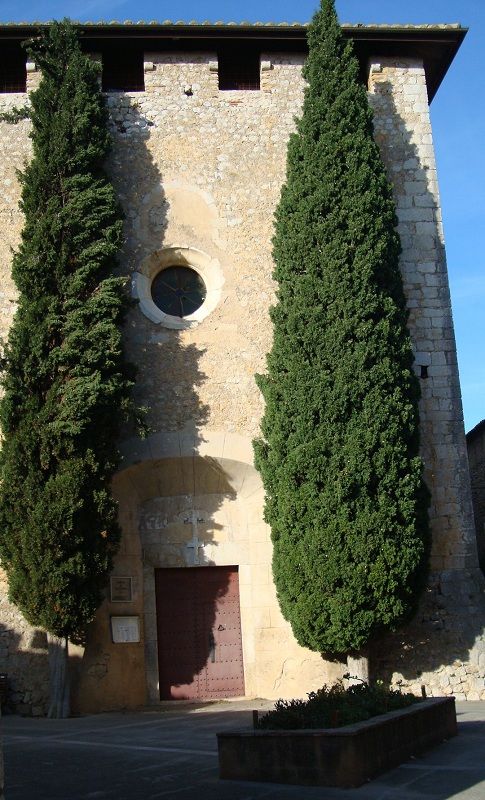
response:
[[[0,0],[0,22],[307,22],[317,0]],[[485,2],[336,0],[341,22],[459,22],[470,28],[431,106],[468,431],[485,418]]]

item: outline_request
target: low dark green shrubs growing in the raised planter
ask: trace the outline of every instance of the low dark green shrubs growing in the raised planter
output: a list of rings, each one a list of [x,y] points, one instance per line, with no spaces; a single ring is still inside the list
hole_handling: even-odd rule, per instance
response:
[[[420,701],[421,698],[413,694],[403,694],[400,688],[385,689],[379,682],[361,682],[345,688],[342,681],[338,681],[330,688],[322,686],[317,692],[310,692],[308,700],[278,700],[274,709],[259,720],[258,727],[266,730],[339,728]]]

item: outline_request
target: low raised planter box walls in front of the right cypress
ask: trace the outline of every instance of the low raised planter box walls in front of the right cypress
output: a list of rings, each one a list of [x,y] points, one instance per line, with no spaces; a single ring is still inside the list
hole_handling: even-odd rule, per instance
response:
[[[424,700],[344,728],[228,731],[217,734],[219,777],[356,787],[456,734],[453,697]]]

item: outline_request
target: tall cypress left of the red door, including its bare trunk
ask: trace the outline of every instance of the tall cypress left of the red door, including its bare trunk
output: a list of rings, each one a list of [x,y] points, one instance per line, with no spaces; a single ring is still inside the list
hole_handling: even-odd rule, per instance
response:
[[[50,634],[49,713],[66,716],[67,638],[92,620],[120,540],[110,481],[134,372],[119,331],[124,281],[112,274],[122,219],[103,169],[99,67],[67,22],[28,52],[42,80],[30,97],[18,309],[3,360],[0,557],[10,599]]]

